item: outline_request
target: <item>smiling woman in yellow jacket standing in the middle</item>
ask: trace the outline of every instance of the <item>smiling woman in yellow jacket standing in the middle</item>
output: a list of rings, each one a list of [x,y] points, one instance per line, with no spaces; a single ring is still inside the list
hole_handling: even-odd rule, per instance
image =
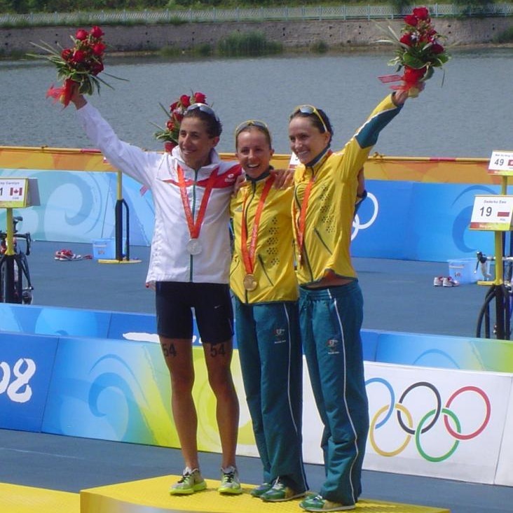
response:
[[[292,188],[275,188],[274,150],[258,120],[235,130],[245,184],[231,202],[234,253],[230,286],[247,405],[264,465],[252,496],[266,502],[302,497],[302,353],[291,228]]]

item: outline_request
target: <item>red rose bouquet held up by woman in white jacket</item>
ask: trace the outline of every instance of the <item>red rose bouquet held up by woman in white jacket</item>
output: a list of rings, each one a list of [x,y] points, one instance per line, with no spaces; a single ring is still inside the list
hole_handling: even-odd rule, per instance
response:
[[[102,38],[103,35],[102,29],[95,26],[90,31],[78,29],[74,37],[70,36],[73,41],[71,48],[59,47],[56,50],[48,43],[43,42],[41,45],[32,43],[49,55],[29,55],[48,59],[55,64],[57,78],[63,81],[62,87],[53,87],[52,85],[46,92],[47,97],[52,97],[55,101],[59,100],[66,107],[75,84],[78,84],[78,92],[81,94],[93,94],[95,89],[100,92],[100,83],[111,87],[98,77],[98,74],[104,69],[103,57],[106,46]]]

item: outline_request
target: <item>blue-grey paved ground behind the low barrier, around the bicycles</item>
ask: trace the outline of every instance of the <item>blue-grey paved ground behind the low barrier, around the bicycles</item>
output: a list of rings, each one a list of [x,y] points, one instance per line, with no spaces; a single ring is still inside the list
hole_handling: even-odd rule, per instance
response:
[[[55,251],[92,253],[90,244],[34,242],[29,256],[34,304],[95,310],[153,313],[153,293],[144,287],[149,248],[130,248],[137,264],[60,262]],[[364,293],[364,328],[474,336],[486,290],[477,285],[434,287],[434,276],[449,274],[447,262],[355,258]]]

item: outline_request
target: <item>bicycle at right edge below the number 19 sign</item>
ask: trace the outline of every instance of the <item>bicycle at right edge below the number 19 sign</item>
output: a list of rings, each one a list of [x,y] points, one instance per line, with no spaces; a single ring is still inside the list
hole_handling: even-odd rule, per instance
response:
[[[487,273],[487,262],[495,262],[495,256],[487,256],[477,251],[477,267],[481,265],[481,272],[485,278],[491,277]],[[495,263],[495,266],[497,263]],[[492,336],[500,340],[509,340],[511,337],[511,317],[513,314],[513,256],[502,257],[503,276],[502,283],[491,282],[490,288],[484,297],[484,303],[477,317],[476,337],[481,337],[484,322],[484,337]],[[491,311],[490,303],[495,300],[495,312]],[[493,329],[492,329],[493,324]]]

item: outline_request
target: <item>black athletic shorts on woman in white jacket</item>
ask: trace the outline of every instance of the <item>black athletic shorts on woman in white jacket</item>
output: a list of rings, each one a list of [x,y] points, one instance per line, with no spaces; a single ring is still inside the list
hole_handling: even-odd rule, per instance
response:
[[[233,337],[230,288],[224,283],[156,283],[157,332],[169,339],[193,336],[193,313],[201,341],[226,342]]]

